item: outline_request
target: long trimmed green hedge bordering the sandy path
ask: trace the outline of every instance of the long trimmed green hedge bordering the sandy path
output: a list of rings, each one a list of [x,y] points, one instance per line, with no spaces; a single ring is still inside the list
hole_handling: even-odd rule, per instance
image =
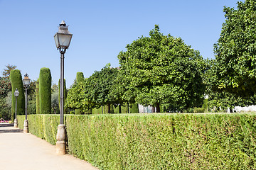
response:
[[[55,138],[58,116],[37,116],[30,132]],[[65,124],[70,154],[100,169],[256,169],[254,113],[65,115]]]

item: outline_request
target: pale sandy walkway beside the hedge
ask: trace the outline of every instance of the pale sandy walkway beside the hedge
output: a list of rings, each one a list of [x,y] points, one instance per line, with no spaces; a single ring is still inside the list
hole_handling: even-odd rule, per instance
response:
[[[71,155],[55,154],[55,146],[45,140],[24,134],[13,125],[0,124],[0,169],[97,169]]]

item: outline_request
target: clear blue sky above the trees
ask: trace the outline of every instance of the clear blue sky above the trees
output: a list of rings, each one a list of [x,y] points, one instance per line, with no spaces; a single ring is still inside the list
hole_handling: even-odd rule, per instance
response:
[[[214,58],[225,21],[223,6],[235,7],[234,0],[129,0],[59,1],[0,0],[0,71],[16,65],[22,76],[37,80],[48,67],[54,84],[60,79],[60,53],[53,35],[64,20],[73,39],[65,53],[65,79],[69,88],[77,72],[90,77],[110,63],[118,67],[117,55],[137,38],[149,36],[158,24],[161,33],[180,37]]]

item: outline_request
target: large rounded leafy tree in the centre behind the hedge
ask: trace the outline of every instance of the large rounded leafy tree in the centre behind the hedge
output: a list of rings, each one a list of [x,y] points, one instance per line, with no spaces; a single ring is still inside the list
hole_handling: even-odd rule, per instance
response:
[[[203,103],[205,61],[181,38],[163,35],[159,26],[118,55],[119,92],[127,101],[182,111]]]

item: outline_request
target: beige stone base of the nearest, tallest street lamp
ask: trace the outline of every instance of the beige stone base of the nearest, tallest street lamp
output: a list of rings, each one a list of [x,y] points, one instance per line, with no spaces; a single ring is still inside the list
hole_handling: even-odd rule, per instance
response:
[[[65,125],[58,125],[58,132],[56,136],[56,153],[57,154],[65,154]]]

